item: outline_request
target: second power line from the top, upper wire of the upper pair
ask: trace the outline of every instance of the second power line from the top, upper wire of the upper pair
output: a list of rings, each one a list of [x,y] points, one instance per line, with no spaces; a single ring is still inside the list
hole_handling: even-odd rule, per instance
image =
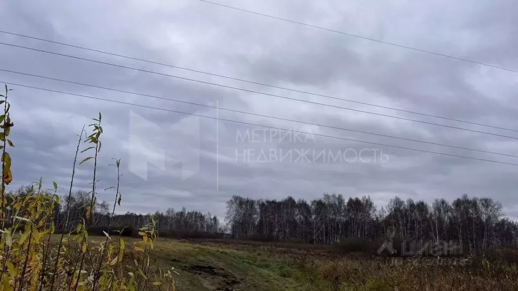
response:
[[[175,69],[181,69],[181,70],[186,70],[186,71],[197,72],[199,74],[205,74],[205,75],[209,75],[209,76],[225,78],[225,79],[228,79],[228,80],[246,82],[246,83],[266,86],[266,87],[269,87],[269,88],[282,89],[282,90],[296,92],[296,93],[303,93],[303,94],[319,96],[319,97],[325,97],[325,98],[330,98],[330,99],[335,99],[335,100],[342,100],[342,101],[347,101],[347,102],[356,103],[356,104],[362,104],[362,105],[368,105],[368,106],[373,106],[373,107],[378,107],[378,108],[395,110],[395,111],[399,111],[399,112],[418,114],[418,115],[423,115],[423,116],[426,116],[426,117],[433,117],[433,118],[438,118],[438,119],[444,119],[444,120],[450,120],[450,121],[456,121],[456,122],[463,122],[463,123],[467,123],[467,124],[491,127],[491,128],[496,128],[496,129],[509,130],[511,132],[518,132],[518,130],[510,129],[510,128],[505,128],[505,127],[500,127],[500,126],[488,125],[488,124],[477,123],[477,122],[466,121],[466,120],[459,120],[459,119],[448,118],[448,117],[441,117],[439,115],[434,115],[434,114],[427,114],[427,113],[416,112],[416,111],[411,111],[411,110],[404,110],[404,109],[399,109],[399,108],[394,108],[394,107],[389,107],[389,106],[382,106],[382,105],[371,104],[371,103],[366,103],[366,102],[362,102],[362,101],[356,101],[356,100],[351,100],[351,99],[339,98],[339,97],[334,97],[334,96],[329,96],[329,95],[324,95],[324,94],[312,93],[312,92],[301,91],[301,90],[296,90],[296,89],[292,89],[292,88],[285,88],[285,87],[282,87],[282,86],[276,86],[276,85],[271,85],[271,84],[266,84],[266,83],[261,83],[261,82],[255,82],[255,81],[239,79],[239,78],[234,78],[234,77],[229,77],[229,76],[224,76],[224,75],[219,75],[219,74],[213,74],[211,72],[206,72],[206,71],[201,71],[201,70],[196,70],[196,69],[191,69],[191,68],[185,68],[185,67],[180,67],[180,66],[174,66],[174,65],[160,63],[160,62],[155,62],[155,61],[149,61],[149,60],[139,59],[137,57],[127,56],[127,55],[122,55],[122,54],[117,54],[117,53],[111,53],[111,52],[102,51],[102,50],[90,49],[90,48],[76,46],[76,45],[70,45],[69,43],[64,43],[64,42],[60,42],[60,41],[54,41],[54,40],[49,40],[49,39],[44,39],[44,38],[39,38],[39,37],[34,37],[34,36],[28,36],[28,35],[23,35],[23,34],[6,32],[6,31],[1,31],[1,30],[0,30],[0,33],[20,36],[20,37],[25,37],[25,38],[31,38],[31,39],[36,39],[36,40],[40,40],[40,41],[46,41],[46,42],[50,42],[50,43],[55,43],[57,45],[62,45],[62,46],[67,46],[67,47],[72,47],[72,48],[77,48],[77,49],[82,49],[82,50],[88,50],[88,51],[103,53],[103,54],[112,55],[112,56],[123,57],[125,59],[130,59],[130,60],[135,60],[135,61],[155,64],[155,65],[161,65],[161,66],[166,66],[166,67],[175,68]]]

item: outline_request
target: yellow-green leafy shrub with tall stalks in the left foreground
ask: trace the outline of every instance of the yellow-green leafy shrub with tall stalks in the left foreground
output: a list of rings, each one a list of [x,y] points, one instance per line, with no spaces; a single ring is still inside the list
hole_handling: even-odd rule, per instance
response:
[[[53,193],[42,190],[42,179],[34,183],[28,193],[8,197],[5,186],[12,182],[11,157],[7,146],[15,147],[8,139],[13,122],[10,118],[8,93],[11,90],[5,86],[5,95],[1,94],[4,114],[0,116],[0,145],[2,157],[1,184],[1,240],[2,257],[0,264],[0,290],[140,290],[149,287],[154,289],[175,289],[176,285],[170,270],[162,270],[149,263],[149,253],[153,251],[157,239],[156,221],[138,230],[126,228],[122,233],[114,235],[111,225],[107,229],[91,227],[93,206],[96,203],[96,168],[97,157],[101,148],[100,137],[103,133],[102,116],[93,119],[92,133],[85,138],[89,147],[81,151],[93,152],[82,159],[82,163],[93,162],[92,191],[89,207],[84,208],[82,223],[75,230],[57,236],[56,243],[52,239],[55,234],[55,209],[59,205],[59,189],[53,182]],[[81,130],[76,149],[69,197],[72,193],[76,161],[84,127]],[[117,166],[117,186],[114,207],[120,205],[120,159],[115,160]],[[70,199],[68,199],[70,201]],[[67,205],[67,210],[70,205]],[[67,211],[68,213],[68,211]],[[113,212],[110,216],[113,216]],[[68,225],[68,214],[65,225]],[[88,229],[88,231],[87,231]],[[89,234],[104,235],[106,239],[98,245],[92,245]],[[139,236],[142,240],[136,245],[127,245],[123,236]],[[112,237],[110,237],[112,236]],[[125,258],[131,257],[131,260]]]

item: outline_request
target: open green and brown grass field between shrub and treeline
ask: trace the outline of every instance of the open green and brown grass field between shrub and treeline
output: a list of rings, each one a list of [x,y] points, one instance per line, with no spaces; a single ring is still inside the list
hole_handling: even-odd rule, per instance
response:
[[[92,240],[103,240],[91,237]],[[125,238],[128,244],[138,242]],[[518,290],[513,263],[391,265],[331,248],[160,239],[151,264],[174,267],[178,290]]]

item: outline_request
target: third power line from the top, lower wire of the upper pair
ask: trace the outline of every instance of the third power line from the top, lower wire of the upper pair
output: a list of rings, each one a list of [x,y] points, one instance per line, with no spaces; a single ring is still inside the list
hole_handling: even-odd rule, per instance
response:
[[[468,129],[468,128],[463,128],[463,127],[457,127],[457,126],[451,126],[451,125],[445,125],[445,124],[439,124],[439,123],[427,122],[427,121],[422,121],[422,120],[415,120],[415,119],[410,119],[410,118],[403,118],[403,117],[398,117],[398,116],[395,116],[395,115],[382,114],[382,113],[377,113],[377,112],[371,112],[371,111],[365,111],[365,110],[353,109],[353,108],[349,108],[349,107],[342,107],[342,106],[330,105],[330,104],[324,104],[324,103],[319,103],[319,102],[314,102],[314,101],[309,101],[309,100],[302,100],[302,99],[297,99],[297,98],[291,98],[291,97],[286,97],[286,96],[281,96],[281,95],[276,95],[276,94],[264,93],[264,92],[259,92],[259,91],[254,91],[254,90],[248,90],[248,89],[243,89],[243,88],[238,88],[238,87],[233,87],[233,86],[227,86],[227,85],[222,85],[222,84],[217,84],[217,83],[206,82],[206,81],[202,81],[202,80],[196,80],[196,79],[190,79],[190,78],[185,78],[185,77],[180,77],[180,76],[175,76],[175,75],[165,74],[165,73],[161,73],[161,72],[155,72],[155,71],[150,71],[150,70],[145,70],[145,69],[139,69],[139,68],[134,68],[134,67],[128,67],[128,66],[123,66],[123,65],[117,65],[117,64],[108,63],[108,62],[102,62],[102,61],[91,60],[91,59],[86,59],[86,58],[84,58],[84,57],[79,57],[79,56],[73,56],[73,55],[67,55],[67,54],[62,54],[62,53],[56,53],[56,52],[51,52],[51,51],[46,51],[46,50],[40,50],[40,49],[29,48],[29,47],[24,47],[24,46],[18,46],[18,45],[13,45],[12,43],[0,42],[0,45],[6,45],[6,46],[10,46],[10,47],[15,47],[15,48],[21,48],[21,49],[27,49],[27,50],[32,50],[32,51],[38,51],[38,52],[44,52],[44,53],[54,54],[54,55],[60,55],[60,56],[70,57],[70,58],[72,58],[72,59],[77,59],[77,60],[82,60],[82,61],[88,61],[88,62],[98,63],[98,64],[103,64],[103,65],[109,65],[109,66],[113,66],[113,67],[119,67],[119,68],[125,68],[125,69],[132,69],[132,70],[136,70],[136,71],[147,72],[147,73],[150,73],[150,74],[155,74],[155,75],[160,75],[160,76],[166,76],[166,77],[171,77],[171,78],[177,78],[177,79],[185,80],[185,81],[192,81],[192,82],[197,82],[197,83],[202,83],[202,84],[207,84],[207,85],[218,86],[218,87],[226,88],[226,89],[239,90],[239,91],[243,91],[243,92],[249,92],[249,93],[261,94],[261,95],[265,95],[265,96],[278,97],[278,98],[283,98],[283,99],[287,99],[287,100],[294,100],[294,101],[300,101],[300,102],[309,103],[309,104],[315,104],[315,105],[321,105],[321,106],[326,106],[326,107],[345,109],[345,110],[350,110],[350,111],[355,111],[355,112],[362,112],[362,113],[367,113],[367,114],[379,115],[379,116],[382,116],[382,117],[389,117],[389,118],[394,118],[394,119],[399,119],[399,120],[406,120],[406,121],[412,121],[412,122],[419,122],[419,123],[423,123],[423,124],[429,124],[429,125],[436,125],[436,126],[447,127],[447,128],[453,128],[453,129],[466,130],[466,131],[468,131],[468,132],[473,132],[473,133],[487,134],[487,135],[493,135],[493,136],[499,136],[499,137],[505,137],[505,138],[511,138],[511,139],[516,139],[516,140],[518,140],[518,137],[512,137],[512,136],[507,136],[507,135],[500,135],[500,134],[488,133],[488,132],[483,132],[483,131],[481,131],[481,130]]]

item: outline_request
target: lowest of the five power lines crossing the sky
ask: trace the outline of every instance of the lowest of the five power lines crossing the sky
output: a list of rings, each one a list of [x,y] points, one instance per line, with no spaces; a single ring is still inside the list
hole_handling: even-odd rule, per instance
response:
[[[221,120],[221,121],[227,121],[227,122],[233,122],[233,123],[240,123],[240,124],[245,124],[245,125],[260,126],[260,127],[271,128],[271,129],[290,131],[290,129],[285,129],[285,128],[281,128],[281,127],[262,125],[262,124],[256,124],[256,123],[248,123],[248,122],[242,122],[242,121],[230,120],[230,119],[223,119],[223,118],[216,118],[216,117],[211,117],[211,116],[203,115],[203,114],[188,113],[188,112],[182,112],[182,111],[177,111],[177,110],[171,110],[171,109],[165,109],[165,108],[159,108],[159,107],[152,107],[152,106],[148,106],[148,105],[140,105],[140,104],[128,103],[128,102],[124,102],[124,101],[110,100],[110,99],[105,99],[105,98],[99,98],[99,97],[93,97],[93,96],[88,96],[88,95],[83,95],[83,94],[63,92],[63,91],[52,90],[52,89],[45,89],[45,88],[40,88],[40,87],[30,86],[30,85],[23,85],[23,84],[18,84],[18,83],[11,83],[11,82],[5,82],[5,81],[0,81],[0,83],[5,83],[5,84],[13,85],[13,86],[21,86],[21,87],[24,87],[24,88],[36,89],[36,90],[41,90],[41,91],[48,91],[48,92],[54,92],[54,93],[60,93],[60,94],[66,94],[66,95],[73,95],[73,96],[84,97],[84,98],[90,98],[90,99],[95,99],[95,100],[103,100],[103,101],[108,101],[108,102],[112,102],[112,103],[125,104],[125,105],[137,106],[137,107],[142,107],[142,108],[148,108],[148,109],[156,109],[156,110],[162,110],[162,111],[168,111],[168,112],[174,112],[174,113],[180,113],[180,114],[186,114],[186,115],[193,115],[193,116],[197,116],[197,117],[203,117],[203,118],[209,118],[209,119],[215,119],[215,120]],[[453,157],[460,157],[460,158],[468,158],[468,159],[473,159],[473,160],[476,160],[476,161],[483,161],[483,162],[490,162],[490,163],[518,166],[518,164],[494,161],[492,159],[484,159],[484,158],[477,158],[477,157],[461,156],[461,155],[454,155],[454,154],[448,154],[448,153],[441,153],[441,152],[434,152],[434,151],[427,151],[427,150],[399,147],[399,146],[393,146],[391,144],[384,144],[384,143],[378,143],[378,142],[370,142],[370,141],[364,141],[364,140],[357,140],[357,139],[350,139],[350,138],[343,138],[343,137],[315,134],[315,133],[309,133],[309,132],[299,132],[299,133],[301,133],[301,134],[308,134],[308,135],[315,135],[315,136],[321,136],[321,137],[334,138],[334,139],[340,139],[340,140],[361,142],[361,143],[367,143],[367,144],[374,144],[376,146],[382,146],[382,147],[389,147],[389,148],[396,148],[396,149],[403,149],[403,150],[410,150],[410,151],[431,153],[431,154],[439,154],[439,155],[446,155],[446,156],[453,156]]]

